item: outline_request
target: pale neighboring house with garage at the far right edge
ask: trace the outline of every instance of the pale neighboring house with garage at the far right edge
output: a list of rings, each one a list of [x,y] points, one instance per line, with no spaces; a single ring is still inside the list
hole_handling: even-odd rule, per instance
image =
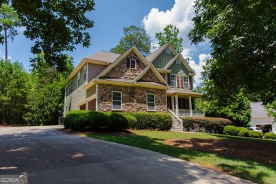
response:
[[[251,127],[260,127],[263,132],[275,132],[276,123],[273,123],[274,118],[268,117],[262,102],[251,103]]]

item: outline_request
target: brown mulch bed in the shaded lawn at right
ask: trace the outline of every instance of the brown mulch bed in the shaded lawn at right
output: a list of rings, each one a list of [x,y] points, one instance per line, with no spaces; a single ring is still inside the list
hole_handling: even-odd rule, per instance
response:
[[[168,139],[165,144],[276,166],[276,142],[234,139]]]

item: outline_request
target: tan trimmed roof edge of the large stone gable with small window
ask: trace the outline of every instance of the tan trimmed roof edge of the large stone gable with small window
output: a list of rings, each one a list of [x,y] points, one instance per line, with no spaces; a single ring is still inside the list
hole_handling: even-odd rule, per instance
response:
[[[101,76],[104,76],[105,74],[108,74],[108,71],[110,71],[111,69],[113,69],[113,67],[115,67],[119,62],[122,61],[122,59],[124,59],[125,57],[127,57],[128,54],[130,54],[130,52],[134,51],[135,54],[137,54],[137,56],[139,57],[139,59],[141,59],[141,61],[148,66],[149,62],[146,61],[146,59],[143,57],[143,55],[139,52],[139,50],[137,50],[137,48],[135,46],[130,47],[129,50],[127,50],[124,54],[120,55],[120,57],[117,57],[117,59],[110,64],[108,67],[106,67],[103,71],[100,72],[100,74],[98,74],[98,76],[96,76],[96,79],[99,79]]]

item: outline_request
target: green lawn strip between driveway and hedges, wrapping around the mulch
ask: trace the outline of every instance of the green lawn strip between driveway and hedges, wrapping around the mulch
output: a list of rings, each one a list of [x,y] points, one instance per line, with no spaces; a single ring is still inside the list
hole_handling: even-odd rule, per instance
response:
[[[176,146],[168,146],[164,144],[166,139],[182,138],[182,139],[247,139],[256,142],[270,142],[276,144],[275,141],[263,139],[248,139],[241,137],[231,137],[219,134],[205,133],[182,133],[182,132],[160,132],[135,130],[133,134],[84,134],[88,137],[102,139],[109,142],[117,142],[130,146],[136,146],[142,149],[174,156],[179,159],[198,163],[202,166],[212,168],[217,171],[231,174],[239,178],[251,180],[255,183],[276,183],[276,166],[267,166],[255,161],[245,161],[234,159],[219,154],[210,154],[202,151],[192,151],[189,149],[178,148]]]

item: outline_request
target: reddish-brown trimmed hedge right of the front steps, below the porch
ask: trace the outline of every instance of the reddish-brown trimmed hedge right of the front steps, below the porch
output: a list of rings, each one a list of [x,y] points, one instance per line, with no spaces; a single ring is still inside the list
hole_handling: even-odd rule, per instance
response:
[[[222,134],[230,120],[219,117],[180,117],[183,121],[183,130],[192,132],[208,132]]]

